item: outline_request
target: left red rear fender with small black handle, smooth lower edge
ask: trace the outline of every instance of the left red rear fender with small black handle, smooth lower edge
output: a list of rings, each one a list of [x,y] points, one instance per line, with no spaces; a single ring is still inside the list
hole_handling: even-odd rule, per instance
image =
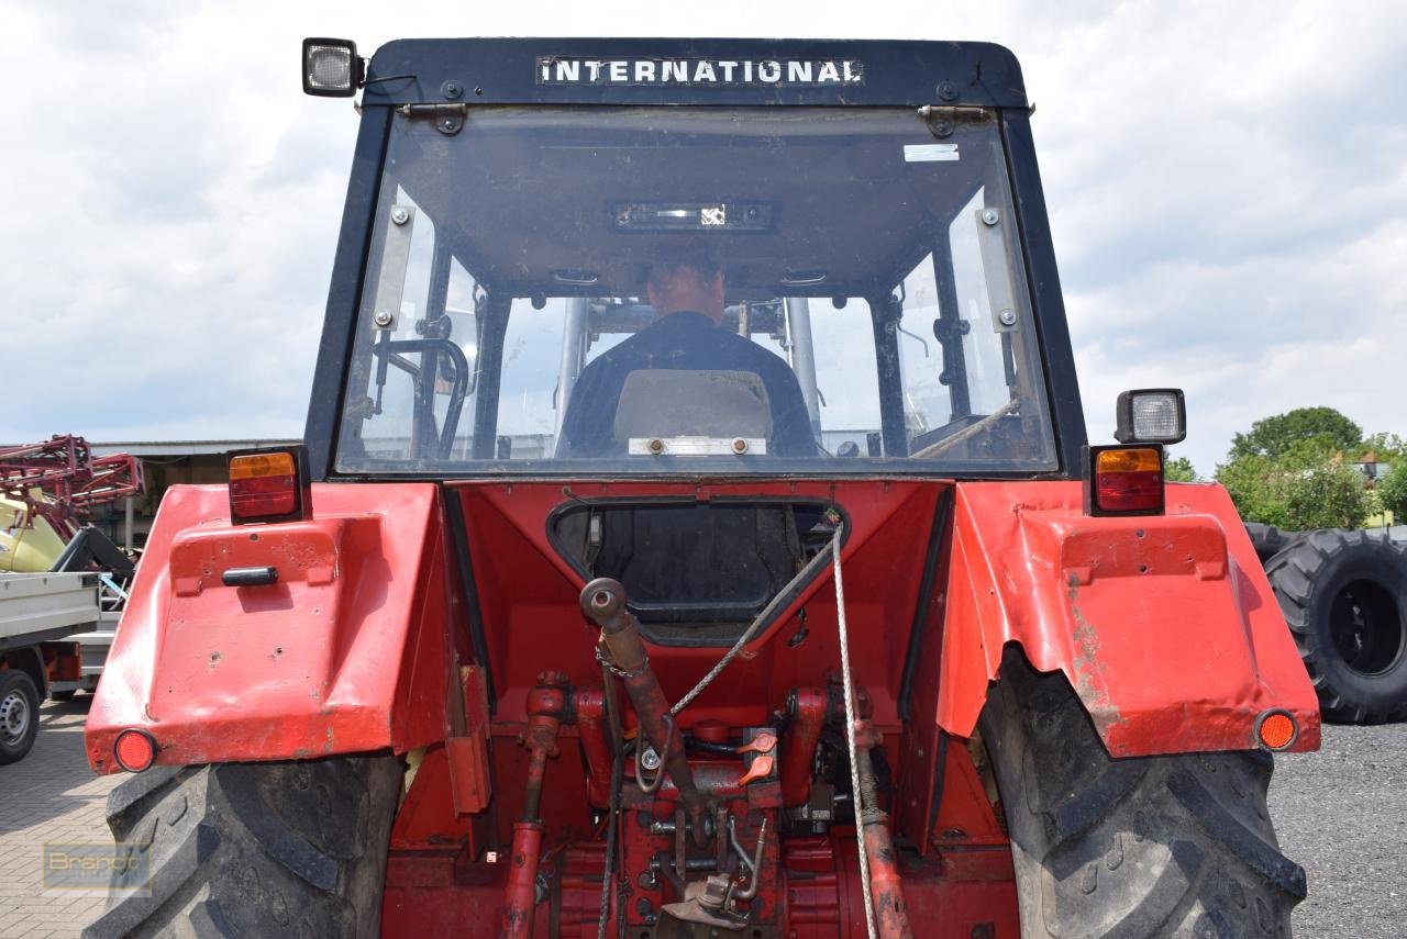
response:
[[[425,484],[317,485],[305,522],[232,526],[225,486],[173,486],[87,718],[93,769],[127,728],[159,763],[405,752],[446,737],[443,510]],[[269,586],[228,568],[274,565]]]

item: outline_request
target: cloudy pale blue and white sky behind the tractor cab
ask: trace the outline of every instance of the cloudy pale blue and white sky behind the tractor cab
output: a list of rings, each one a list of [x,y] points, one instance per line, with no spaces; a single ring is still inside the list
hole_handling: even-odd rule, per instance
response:
[[[300,39],[543,34],[1007,45],[1092,440],[1164,384],[1203,472],[1304,405],[1407,436],[1407,4],[0,0],[0,439],[300,434],[356,132]]]

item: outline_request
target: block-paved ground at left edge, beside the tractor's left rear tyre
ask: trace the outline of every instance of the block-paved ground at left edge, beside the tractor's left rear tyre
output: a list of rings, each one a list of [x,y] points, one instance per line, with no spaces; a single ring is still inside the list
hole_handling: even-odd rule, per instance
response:
[[[107,793],[120,776],[94,776],[83,755],[89,699],[49,701],[34,749],[0,766],[0,939],[77,936],[103,909],[89,890],[44,890],[41,845],[110,839]]]

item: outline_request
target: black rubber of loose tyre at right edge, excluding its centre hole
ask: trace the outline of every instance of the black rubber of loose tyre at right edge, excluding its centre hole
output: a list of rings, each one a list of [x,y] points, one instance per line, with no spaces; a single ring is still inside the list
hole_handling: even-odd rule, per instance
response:
[[[1330,589],[1327,581],[1345,552],[1383,551],[1403,558],[1407,569],[1407,544],[1392,541],[1386,533],[1363,530],[1318,529],[1301,533],[1265,564],[1271,589],[1290,627],[1294,647],[1318,694],[1320,711],[1328,720],[1345,724],[1382,724],[1407,718],[1407,694],[1387,704],[1375,703],[1356,693],[1338,678],[1338,652],[1325,638],[1325,613],[1320,609],[1320,592]],[[1407,604],[1407,589],[1399,586],[1399,604]]]

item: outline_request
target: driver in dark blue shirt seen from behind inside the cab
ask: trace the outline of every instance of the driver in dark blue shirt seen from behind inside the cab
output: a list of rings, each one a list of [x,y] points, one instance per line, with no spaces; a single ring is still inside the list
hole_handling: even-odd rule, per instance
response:
[[[626,453],[619,439],[622,392],[632,373],[678,370],[712,374],[744,374],[760,380],[770,419],[767,453],[809,457],[817,453],[801,385],[791,367],[757,343],[723,329],[723,271],[706,253],[681,253],[650,268],[646,285],[658,319],[588,364],[577,380],[557,444],[559,457],[605,457]],[[680,384],[682,388],[682,382]],[[667,395],[660,396],[661,401]],[[709,401],[692,402],[708,410]],[[649,410],[650,402],[630,402],[628,410]],[[668,423],[670,405],[661,403],[660,420]],[[723,422],[727,423],[726,420]],[[660,436],[695,433],[689,427],[661,427]],[[732,429],[730,436],[746,436]]]

